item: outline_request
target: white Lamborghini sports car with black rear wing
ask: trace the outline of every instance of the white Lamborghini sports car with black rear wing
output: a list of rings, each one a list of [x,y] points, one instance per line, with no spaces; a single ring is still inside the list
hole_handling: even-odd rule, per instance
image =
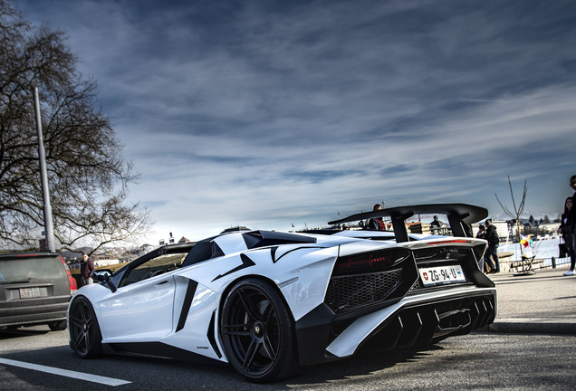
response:
[[[406,219],[433,213],[447,215],[454,236],[408,234]],[[484,208],[402,206],[331,224],[377,216],[394,233],[241,231],[159,247],[74,295],[70,346],[82,358],[199,355],[268,382],[494,321],[494,283],[478,267],[486,242],[465,230]]]

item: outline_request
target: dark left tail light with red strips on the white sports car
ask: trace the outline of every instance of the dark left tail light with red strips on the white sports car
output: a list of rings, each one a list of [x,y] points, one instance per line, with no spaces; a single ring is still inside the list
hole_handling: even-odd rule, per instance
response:
[[[332,275],[382,272],[391,269],[408,256],[410,252],[400,248],[343,256],[336,260]]]

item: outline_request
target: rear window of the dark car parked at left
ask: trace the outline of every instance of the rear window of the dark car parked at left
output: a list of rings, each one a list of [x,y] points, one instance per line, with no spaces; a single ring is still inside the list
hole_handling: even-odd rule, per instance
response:
[[[59,257],[0,260],[0,283],[66,279]]]

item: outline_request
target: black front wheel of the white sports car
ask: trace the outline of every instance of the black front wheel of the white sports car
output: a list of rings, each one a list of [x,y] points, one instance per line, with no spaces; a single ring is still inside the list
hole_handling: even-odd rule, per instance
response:
[[[96,358],[102,354],[102,337],[98,319],[88,299],[80,296],[72,301],[68,314],[70,347],[81,358]]]

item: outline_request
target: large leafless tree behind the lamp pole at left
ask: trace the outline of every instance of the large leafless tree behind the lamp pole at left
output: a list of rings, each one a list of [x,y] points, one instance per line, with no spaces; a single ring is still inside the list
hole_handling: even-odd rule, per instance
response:
[[[76,71],[64,33],[34,28],[0,0],[0,241],[37,247],[43,199],[34,87],[40,91],[44,148],[60,249],[127,241],[149,230],[149,212],[127,202],[136,179],[101,112],[97,86]]]

